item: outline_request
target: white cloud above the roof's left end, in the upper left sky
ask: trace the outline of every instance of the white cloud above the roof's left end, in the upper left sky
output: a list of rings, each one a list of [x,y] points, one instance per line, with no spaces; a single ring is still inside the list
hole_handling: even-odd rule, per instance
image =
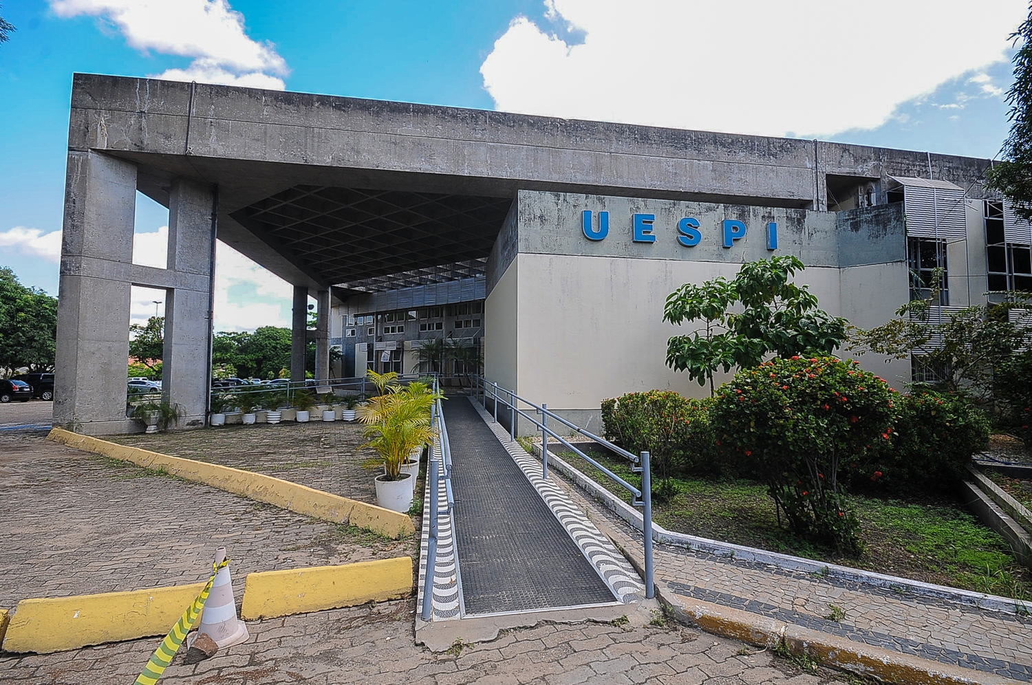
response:
[[[132,47],[193,58],[157,78],[283,90],[287,63],[267,41],[250,38],[227,0],[51,0],[58,17],[98,17]]]

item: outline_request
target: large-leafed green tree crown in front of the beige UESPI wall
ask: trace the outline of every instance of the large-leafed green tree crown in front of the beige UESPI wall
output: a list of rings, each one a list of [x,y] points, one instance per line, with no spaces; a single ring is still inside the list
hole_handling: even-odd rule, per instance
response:
[[[789,279],[806,267],[792,256],[742,265],[734,281],[716,278],[701,286],[685,284],[667,297],[663,319],[672,324],[702,321],[705,327],[667,341],[667,365],[687,371],[699,385],[733,366],[759,365],[770,353],[779,357],[828,354],[845,339],[846,320],[817,308],[809,286]],[[733,307],[741,312],[734,313]]]

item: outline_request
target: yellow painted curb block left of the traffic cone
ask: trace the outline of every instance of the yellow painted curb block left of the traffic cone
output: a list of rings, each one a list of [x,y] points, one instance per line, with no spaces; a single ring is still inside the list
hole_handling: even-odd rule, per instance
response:
[[[73,597],[23,599],[10,617],[7,652],[59,652],[87,645],[163,635],[204,583]]]

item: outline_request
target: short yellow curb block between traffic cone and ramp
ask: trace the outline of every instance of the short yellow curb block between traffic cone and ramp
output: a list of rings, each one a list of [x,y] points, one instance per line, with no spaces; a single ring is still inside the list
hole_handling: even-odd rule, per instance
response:
[[[248,574],[240,618],[252,620],[384,601],[412,593],[412,558]]]

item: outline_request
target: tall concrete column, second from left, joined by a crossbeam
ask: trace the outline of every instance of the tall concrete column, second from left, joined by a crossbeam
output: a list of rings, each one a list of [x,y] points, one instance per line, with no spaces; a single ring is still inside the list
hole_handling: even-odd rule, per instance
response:
[[[165,300],[164,399],[180,405],[181,428],[205,425],[212,373],[215,189],[172,182],[168,204],[168,270],[201,276],[193,288],[169,288]],[[195,289],[201,288],[201,289]]]

